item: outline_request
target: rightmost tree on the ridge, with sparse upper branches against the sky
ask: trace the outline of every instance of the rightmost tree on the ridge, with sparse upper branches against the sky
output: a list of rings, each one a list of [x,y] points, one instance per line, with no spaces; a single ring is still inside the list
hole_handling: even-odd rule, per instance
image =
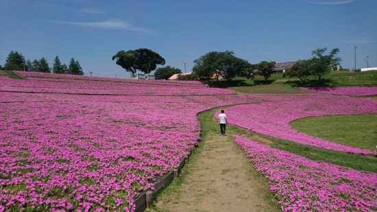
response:
[[[335,65],[341,62],[341,58],[337,57],[339,49],[332,49],[330,54],[325,55],[326,51],[327,48],[312,51],[313,75],[317,75],[318,81],[321,81],[323,75],[330,72]]]

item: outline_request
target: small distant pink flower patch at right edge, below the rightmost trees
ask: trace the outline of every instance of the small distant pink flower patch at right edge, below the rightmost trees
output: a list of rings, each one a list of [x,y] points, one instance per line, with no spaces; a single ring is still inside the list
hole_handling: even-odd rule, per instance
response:
[[[377,86],[371,87],[329,87],[329,88],[300,88],[305,91],[313,91],[326,94],[368,96],[377,95]]]

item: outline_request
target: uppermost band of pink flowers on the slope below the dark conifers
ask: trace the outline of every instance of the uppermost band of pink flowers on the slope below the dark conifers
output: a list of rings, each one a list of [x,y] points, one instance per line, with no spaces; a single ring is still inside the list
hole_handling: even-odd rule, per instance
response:
[[[164,80],[122,80],[89,78],[86,76],[23,72],[28,80],[0,78],[0,91],[27,93],[66,93],[98,95],[223,95],[235,94],[226,89],[204,88],[200,82],[170,82]],[[52,75],[52,76],[51,76]],[[58,78],[53,78],[53,76]],[[153,82],[152,82],[153,81]]]

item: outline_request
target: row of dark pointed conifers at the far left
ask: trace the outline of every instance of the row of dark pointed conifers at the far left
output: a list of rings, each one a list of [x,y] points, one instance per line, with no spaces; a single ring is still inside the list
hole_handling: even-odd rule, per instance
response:
[[[1,67],[1,66],[0,66]],[[23,71],[38,71],[51,73],[51,68],[49,63],[45,58],[40,58],[40,60],[26,60],[24,56],[18,51],[10,51],[8,58],[4,64],[4,67],[1,67],[4,70],[23,70]],[[52,67],[53,73],[68,73],[74,75],[84,75],[84,71],[78,60],[71,58],[69,65],[62,64],[58,56],[55,57]]]

